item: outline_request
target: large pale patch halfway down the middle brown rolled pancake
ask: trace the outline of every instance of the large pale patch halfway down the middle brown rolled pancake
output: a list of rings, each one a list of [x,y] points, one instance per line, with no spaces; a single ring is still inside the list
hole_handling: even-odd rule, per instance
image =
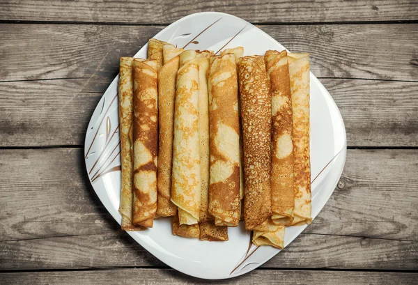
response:
[[[215,146],[219,153],[231,162],[240,161],[240,137],[237,132],[228,125],[218,123],[217,134],[215,134]]]

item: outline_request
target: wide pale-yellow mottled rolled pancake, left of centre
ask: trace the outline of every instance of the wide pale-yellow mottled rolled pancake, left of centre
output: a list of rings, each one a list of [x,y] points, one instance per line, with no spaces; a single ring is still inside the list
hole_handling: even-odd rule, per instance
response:
[[[174,111],[171,201],[180,224],[196,224],[200,215],[199,61],[194,50],[180,54]]]

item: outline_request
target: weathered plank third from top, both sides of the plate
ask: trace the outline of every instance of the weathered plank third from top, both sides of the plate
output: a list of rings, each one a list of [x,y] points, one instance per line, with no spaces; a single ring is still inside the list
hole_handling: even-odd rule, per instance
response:
[[[418,82],[321,82],[339,106],[348,146],[417,146]],[[107,84],[107,79],[0,83],[0,146],[84,144]]]

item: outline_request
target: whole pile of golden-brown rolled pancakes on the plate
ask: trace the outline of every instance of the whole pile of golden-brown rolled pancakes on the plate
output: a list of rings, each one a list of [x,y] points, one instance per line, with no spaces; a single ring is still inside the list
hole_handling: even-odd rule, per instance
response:
[[[243,54],[150,39],[121,58],[122,229],[172,216],[173,235],[221,241],[243,219],[283,248],[311,222],[309,54]]]

